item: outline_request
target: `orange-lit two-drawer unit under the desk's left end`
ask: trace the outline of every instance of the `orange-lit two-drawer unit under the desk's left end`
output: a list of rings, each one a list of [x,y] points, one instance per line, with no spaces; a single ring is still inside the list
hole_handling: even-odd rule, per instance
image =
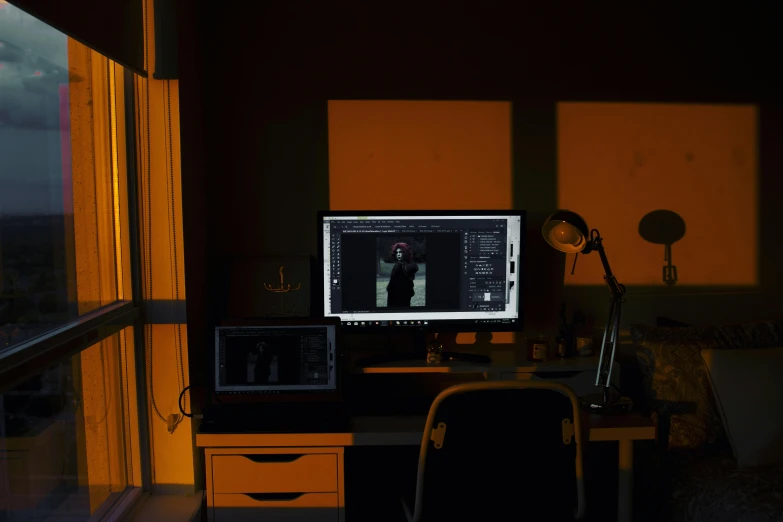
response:
[[[344,518],[343,448],[206,448],[210,522]]]

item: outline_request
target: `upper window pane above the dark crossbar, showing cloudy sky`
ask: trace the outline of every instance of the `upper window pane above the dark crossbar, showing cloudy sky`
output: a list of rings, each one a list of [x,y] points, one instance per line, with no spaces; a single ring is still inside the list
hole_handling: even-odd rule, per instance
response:
[[[0,353],[129,298],[117,78],[0,3]]]

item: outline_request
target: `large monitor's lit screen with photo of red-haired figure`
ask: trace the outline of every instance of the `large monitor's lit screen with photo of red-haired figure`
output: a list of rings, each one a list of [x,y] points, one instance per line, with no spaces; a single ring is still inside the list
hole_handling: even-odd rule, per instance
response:
[[[518,326],[522,214],[321,216],[324,315],[343,326]]]

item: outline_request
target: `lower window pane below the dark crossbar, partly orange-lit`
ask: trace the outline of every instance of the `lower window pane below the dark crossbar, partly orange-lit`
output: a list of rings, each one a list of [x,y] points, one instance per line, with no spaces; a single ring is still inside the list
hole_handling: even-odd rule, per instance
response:
[[[0,391],[0,520],[88,520],[134,484],[132,330]]]

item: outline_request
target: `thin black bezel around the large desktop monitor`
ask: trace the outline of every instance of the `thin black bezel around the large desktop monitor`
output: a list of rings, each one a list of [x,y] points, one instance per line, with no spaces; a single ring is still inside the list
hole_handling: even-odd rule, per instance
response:
[[[521,332],[524,328],[524,294],[525,294],[525,253],[527,251],[526,239],[527,239],[527,212],[525,210],[319,210],[317,212],[318,223],[318,255],[316,273],[313,274],[313,282],[318,284],[318,291],[313,292],[313,298],[317,299],[316,307],[311,308],[317,311],[321,316],[325,315],[324,310],[324,230],[323,221],[325,217],[341,217],[341,216],[504,216],[504,217],[519,217],[520,218],[520,233],[519,233],[519,263],[517,265],[517,272],[519,278],[517,285],[519,287],[517,291],[517,322],[516,323],[472,323],[471,320],[455,321],[455,322],[435,322],[427,326],[352,326],[346,327],[342,325],[341,328],[344,332],[350,333],[378,333],[378,332],[415,332],[415,331],[431,331],[431,332]],[[335,319],[340,321],[339,317],[328,316],[329,319]],[[342,323],[342,322],[341,322]]]

